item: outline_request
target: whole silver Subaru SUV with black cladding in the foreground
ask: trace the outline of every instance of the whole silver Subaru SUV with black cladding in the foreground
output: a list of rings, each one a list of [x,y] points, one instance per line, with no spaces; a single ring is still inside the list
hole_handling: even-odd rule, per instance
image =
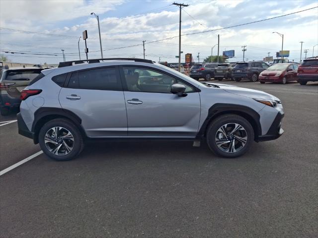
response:
[[[284,132],[278,98],[201,83],[151,60],[61,62],[41,75],[21,92],[19,133],[59,161],[92,138],[206,141],[233,158]]]

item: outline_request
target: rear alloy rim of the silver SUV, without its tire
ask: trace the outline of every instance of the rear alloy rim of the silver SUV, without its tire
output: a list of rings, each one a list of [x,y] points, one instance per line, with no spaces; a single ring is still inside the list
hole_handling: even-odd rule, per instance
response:
[[[44,143],[51,153],[67,155],[74,148],[74,136],[68,129],[56,126],[46,132]]]

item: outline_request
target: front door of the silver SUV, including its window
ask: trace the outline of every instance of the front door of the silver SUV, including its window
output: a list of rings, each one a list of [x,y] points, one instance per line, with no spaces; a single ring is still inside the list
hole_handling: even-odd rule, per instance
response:
[[[147,78],[139,76],[142,73]],[[150,76],[149,76],[150,75]],[[195,137],[200,121],[200,95],[192,85],[163,71],[143,66],[121,67],[127,108],[128,136]],[[170,92],[174,83],[186,96]]]

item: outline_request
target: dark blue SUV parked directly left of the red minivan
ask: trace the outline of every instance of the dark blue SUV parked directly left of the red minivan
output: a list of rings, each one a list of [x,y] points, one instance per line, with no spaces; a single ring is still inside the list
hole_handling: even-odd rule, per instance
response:
[[[232,70],[232,78],[238,82],[242,78],[256,82],[258,80],[258,75],[268,67],[269,65],[267,63],[261,61],[239,62]]]

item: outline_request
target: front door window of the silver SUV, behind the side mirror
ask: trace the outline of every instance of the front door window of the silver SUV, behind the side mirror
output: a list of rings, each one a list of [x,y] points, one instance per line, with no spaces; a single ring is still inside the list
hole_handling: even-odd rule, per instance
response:
[[[154,69],[131,66],[123,71],[128,91],[171,93],[171,85],[179,83],[186,87],[185,93],[194,92],[191,85]]]

